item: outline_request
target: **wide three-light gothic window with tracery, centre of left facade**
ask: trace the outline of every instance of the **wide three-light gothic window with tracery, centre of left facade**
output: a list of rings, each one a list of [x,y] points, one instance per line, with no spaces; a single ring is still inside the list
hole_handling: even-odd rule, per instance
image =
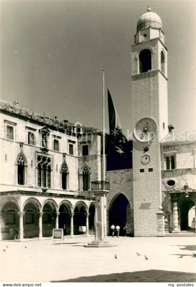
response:
[[[47,156],[37,156],[37,185],[51,187],[51,158]]]

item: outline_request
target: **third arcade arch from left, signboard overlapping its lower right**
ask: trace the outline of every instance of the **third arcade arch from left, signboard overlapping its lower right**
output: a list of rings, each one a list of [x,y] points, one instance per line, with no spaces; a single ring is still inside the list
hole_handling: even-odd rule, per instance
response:
[[[45,203],[42,216],[42,234],[43,237],[52,236],[52,230],[55,228],[56,208],[52,203]]]

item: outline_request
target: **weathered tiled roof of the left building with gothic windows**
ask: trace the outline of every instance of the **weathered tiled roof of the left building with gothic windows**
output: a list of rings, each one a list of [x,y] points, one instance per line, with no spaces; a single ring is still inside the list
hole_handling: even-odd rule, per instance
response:
[[[10,102],[4,101],[4,100],[0,100],[0,109],[8,111],[10,113],[21,115],[21,116],[26,117],[28,119],[32,119],[32,120],[38,121],[42,124],[50,125],[50,126],[53,126],[56,128],[66,129],[68,131],[73,131],[73,129],[74,129],[74,124],[72,124],[72,123],[68,123],[68,122],[65,123],[64,121],[60,121],[57,117],[55,117],[55,118],[45,117],[45,115],[41,115],[39,113],[32,112],[32,111],[28,110],[27,108],[22,108],[16,104],[11,104]],[[101,132],[100,130],[95,129],[93,127],[83,127],[82,126],[81,128],[84,131],[84,133]]]

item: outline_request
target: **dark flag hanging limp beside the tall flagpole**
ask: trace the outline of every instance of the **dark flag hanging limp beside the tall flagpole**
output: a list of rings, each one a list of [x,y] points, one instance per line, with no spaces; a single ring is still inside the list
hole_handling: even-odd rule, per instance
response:
[[[108,88],[107,88],[107,95],[108,95],[108,112],[109,112],[109,133],[111,141],[114,144],[117,151],[122,153],[123,151],[120,143],[126,143],[127,139],[122,133],[120,119],[118,117],[118,113],[116,111],[114,102],[112,100],[112,96],[110,95]],[[118,146],[121,147],[120,150],[118,149]]]

